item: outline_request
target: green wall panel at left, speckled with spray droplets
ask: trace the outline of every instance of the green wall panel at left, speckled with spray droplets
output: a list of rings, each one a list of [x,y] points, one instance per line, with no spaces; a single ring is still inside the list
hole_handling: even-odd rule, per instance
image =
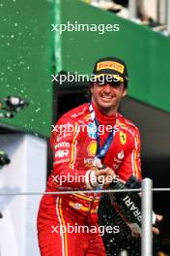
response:
[[[13,119],[0,121],[44,136],[51,130],[53,10],[45,0],[0,4],[0,98],[13,95],[30,102]]]

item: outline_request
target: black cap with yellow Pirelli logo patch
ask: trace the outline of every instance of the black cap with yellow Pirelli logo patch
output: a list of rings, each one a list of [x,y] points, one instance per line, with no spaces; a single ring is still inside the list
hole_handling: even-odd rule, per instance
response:
[[[112,76],[119,82],[128,81],[128,70],[126,63],[116,57],[105,57],[99,59],[94,67],[94,75],[98,78],[100,76]]]

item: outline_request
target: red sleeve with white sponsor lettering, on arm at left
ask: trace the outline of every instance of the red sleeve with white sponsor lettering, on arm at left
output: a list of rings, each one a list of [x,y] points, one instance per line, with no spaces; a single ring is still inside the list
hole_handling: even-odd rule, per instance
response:
[[[48,185],[54,187],[73,187],[93,189],[91,186],[94,171],[79,171],[74,168],[77,152],[77,123],[70,117],[63,116],[53,127],[50,144],[53,150],[53,172],[48,178]],[[81,142],[79,142],[81,143]]]

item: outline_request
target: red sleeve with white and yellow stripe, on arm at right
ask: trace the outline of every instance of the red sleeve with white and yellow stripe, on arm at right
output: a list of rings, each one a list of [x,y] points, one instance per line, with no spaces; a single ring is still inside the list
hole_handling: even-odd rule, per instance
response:
[[[128,153],[119,170],[119,177],[123,181],[127,181],[130,176],[136,176],[141,180],[141,161],[140,161],[140,135],[137,128],[133,133],[131,143],[129,144]]]

